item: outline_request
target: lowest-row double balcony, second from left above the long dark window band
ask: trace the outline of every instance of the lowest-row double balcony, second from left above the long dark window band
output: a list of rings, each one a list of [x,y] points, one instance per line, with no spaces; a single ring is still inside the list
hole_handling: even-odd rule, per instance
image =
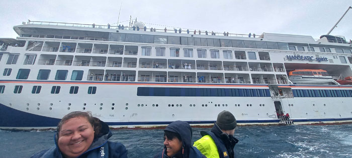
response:
[[[197,82],[195,72],[168,72],[167,82],[184,82],[195,83]]]

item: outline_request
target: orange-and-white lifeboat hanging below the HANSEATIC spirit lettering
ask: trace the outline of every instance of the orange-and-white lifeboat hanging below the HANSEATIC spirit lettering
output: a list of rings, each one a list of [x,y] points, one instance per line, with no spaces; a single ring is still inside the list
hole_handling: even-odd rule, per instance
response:
[[[337,84],[332,76],[321,69],[296,69],[289,72],[289,80],[294,84]]]

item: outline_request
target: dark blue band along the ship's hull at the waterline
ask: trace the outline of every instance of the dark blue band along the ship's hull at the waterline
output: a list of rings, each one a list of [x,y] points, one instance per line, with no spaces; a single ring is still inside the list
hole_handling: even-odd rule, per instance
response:
[[[326,118],[326,119],[295,119],[294,122],[323,122],[323,121],[352,121],[352,118]],[[0,126],[1,127],[55,127],[60,119],[40,116],[13,109],[0,104]],[[187,121],[190,124],[212,124],[209,121]],[[279,120],[237,120],[237,123],[278,123]],[[155,122],[107,122],[108,125],[159,125],[169,124],[171,121]]]

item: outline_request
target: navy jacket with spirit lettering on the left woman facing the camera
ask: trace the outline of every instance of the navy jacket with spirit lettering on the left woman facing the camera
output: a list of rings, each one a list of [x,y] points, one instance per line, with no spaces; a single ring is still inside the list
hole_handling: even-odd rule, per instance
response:
[[[100,121],[102,124],[102,129],[100,134],[95,136],[91,146],[78,157],[87,158],[109,158],[109,157],[119,157],[127,158],[126,147],[119,142],[111,142],[108,139],[113,135],[111,133],[109,126]],[[62,153],[57,146],[57,134],[55,133],[55,146],[48,150],[43,150],[32,155],[31,158],[62,158]]]

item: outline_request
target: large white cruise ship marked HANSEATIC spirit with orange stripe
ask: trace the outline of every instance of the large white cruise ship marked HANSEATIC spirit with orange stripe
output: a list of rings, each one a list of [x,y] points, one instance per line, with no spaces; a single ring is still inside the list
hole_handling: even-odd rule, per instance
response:
[[[0,128],[52,128],[72,111],[111,127],[352,122],[352,45],[343,36],[28,21],[0,39]],[[210,31],[209,31],[210,32]],[[301,84],[297,70],[331,82]],[[314,75],[323,77],[324,74]],[[284,115],[289,115],[285,117]]]

